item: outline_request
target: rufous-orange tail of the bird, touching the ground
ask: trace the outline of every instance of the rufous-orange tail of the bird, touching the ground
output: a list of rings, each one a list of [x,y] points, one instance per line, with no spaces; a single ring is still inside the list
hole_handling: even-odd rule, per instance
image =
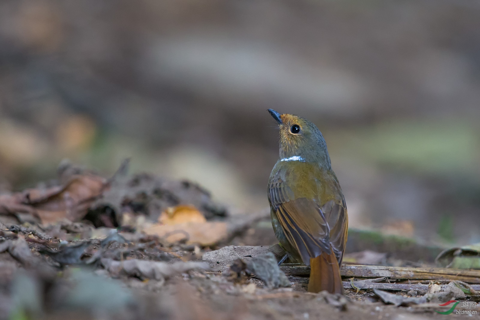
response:
[[[326,290],[330,293],[343,294],[340,268],[333,250],[330,254],[324,252],[316,258],[311,258],[310,268],[308,292],[317,293]]]

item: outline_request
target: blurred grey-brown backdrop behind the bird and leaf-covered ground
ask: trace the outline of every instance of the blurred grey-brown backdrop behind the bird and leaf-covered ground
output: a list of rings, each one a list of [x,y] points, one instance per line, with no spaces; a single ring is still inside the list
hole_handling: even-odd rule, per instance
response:
[[[324,133],[351,227],[480,242],[480,2],[2,0],[0,189],[189,178],[268,207],[275,121]]]

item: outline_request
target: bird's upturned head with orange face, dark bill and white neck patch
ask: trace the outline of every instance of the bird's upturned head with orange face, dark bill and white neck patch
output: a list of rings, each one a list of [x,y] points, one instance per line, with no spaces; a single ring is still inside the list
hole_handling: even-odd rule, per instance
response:
[[[276,120],[280,130],[280,159],[318,162],[330,168],[330,157],[322,132],[309,120],[290,114],[268,112]]]

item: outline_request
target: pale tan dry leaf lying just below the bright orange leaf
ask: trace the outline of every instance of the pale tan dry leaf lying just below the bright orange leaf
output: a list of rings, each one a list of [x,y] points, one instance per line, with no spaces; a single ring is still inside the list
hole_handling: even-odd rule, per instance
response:
[[[228,236],[225,222],[187,222],[177,225],[153,225],[146,228],[147,235],[163,237],[168,242],[186,239],[187,243],[210,246],[224,240]]]

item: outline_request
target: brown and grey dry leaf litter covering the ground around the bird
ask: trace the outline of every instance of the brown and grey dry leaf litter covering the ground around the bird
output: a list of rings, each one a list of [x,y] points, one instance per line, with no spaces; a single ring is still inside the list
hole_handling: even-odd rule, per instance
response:
[[[228,246],[268,211],[230,213],[198,184],[128,166],[105,178],[63,161],[56,182],[0,195],[0,319],[361,320],[479,296],[459,281],[407,296],[368,289],[388,277],[345,282],[345,296],[307,293],[308,278],[278,267],[278,245]]]

